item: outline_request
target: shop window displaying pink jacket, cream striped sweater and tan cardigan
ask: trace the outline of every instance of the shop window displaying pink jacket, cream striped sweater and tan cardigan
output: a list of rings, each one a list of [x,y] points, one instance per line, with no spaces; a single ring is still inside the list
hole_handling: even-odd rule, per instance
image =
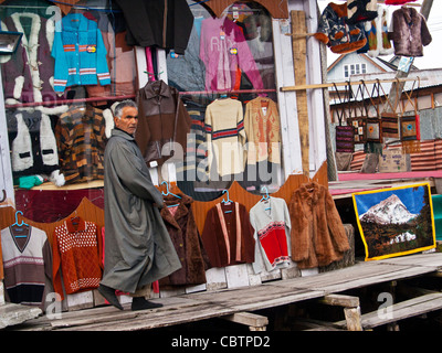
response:
[[[274,192],[282,162],[272,18],[253,1],[236,2],[220,18],[190,3],[186,53],[167,55],[168,85],[192,119],[177,184],[200,201],[220,196],[234,180],[252,193],[263,185]]]

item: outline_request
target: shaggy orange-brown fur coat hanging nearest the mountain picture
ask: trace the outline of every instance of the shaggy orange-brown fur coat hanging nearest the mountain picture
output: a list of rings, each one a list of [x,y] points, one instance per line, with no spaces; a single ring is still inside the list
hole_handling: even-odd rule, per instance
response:
[[[299,268],[327,266],[350,248],[335,202],[324,185],[302,184],[292,194],[288,212],[292,259]]]

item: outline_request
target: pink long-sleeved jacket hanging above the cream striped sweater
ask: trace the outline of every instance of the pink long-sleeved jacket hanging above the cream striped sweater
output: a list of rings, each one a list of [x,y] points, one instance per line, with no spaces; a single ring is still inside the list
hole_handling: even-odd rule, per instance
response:
[[[200,58],[206,65],[207,90],[228,92],[235,87],[238,67],[249,77],[254,89],[264,88],[241,28],[228,18],[202,21]]]

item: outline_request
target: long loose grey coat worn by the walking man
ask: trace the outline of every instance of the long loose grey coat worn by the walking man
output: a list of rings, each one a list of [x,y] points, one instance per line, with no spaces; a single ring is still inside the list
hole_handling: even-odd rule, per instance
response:
[[[157,206],[162,196],[151,182],[135,139],[112,131],[104,154],[105,264],[102,284],[126,292],[181,267]]]

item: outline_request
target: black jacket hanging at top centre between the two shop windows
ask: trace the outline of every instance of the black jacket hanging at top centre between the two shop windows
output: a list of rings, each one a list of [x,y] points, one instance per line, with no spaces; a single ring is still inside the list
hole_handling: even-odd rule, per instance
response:
[[[186,0],[116,0],[127,22],[128,45],[185,54],[193,15]]]

